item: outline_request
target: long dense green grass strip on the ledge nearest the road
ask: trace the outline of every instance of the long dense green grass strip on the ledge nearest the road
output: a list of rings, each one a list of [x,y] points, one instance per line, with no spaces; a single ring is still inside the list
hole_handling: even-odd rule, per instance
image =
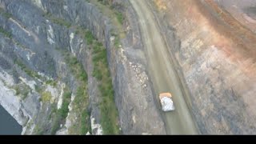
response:
[[[102,95],[101,123],[104,134],[119,134],[118,130],[118,111],[114,103],[114,90],[108,68],[106,49],[95,42],[93,46],[93,76],[98,80],[98,88]]]

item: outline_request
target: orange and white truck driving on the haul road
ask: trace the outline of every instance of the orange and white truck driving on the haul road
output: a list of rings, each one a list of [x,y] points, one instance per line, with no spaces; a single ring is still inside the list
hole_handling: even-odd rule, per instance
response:
[[[171,97],[172,97],[172,95],[170,93],[159,94],[160,102],[162,105],[162,111],[175,110],[174,102]]]

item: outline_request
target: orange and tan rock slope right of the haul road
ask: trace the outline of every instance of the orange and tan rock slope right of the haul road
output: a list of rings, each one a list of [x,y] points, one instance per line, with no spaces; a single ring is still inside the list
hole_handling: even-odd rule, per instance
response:
[[[151,2],[200,132],[255,134],[255,34],[213,1]]]

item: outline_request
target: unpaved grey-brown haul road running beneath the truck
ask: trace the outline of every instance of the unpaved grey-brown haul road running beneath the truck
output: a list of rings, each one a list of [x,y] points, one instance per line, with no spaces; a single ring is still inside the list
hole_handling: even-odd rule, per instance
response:
[[[147,7],[146,0],[130,0],[130,3],[138,14],[155,95],[157,98],[162,92],[170,92],[173,95],[176,110],[162,112],[167,134],[198,134],[154,15]],[[161,109],[160,102],[158,107]]]

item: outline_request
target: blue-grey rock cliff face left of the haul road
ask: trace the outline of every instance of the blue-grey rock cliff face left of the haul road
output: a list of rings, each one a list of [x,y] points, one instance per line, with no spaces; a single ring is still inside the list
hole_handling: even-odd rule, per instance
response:
[[[118,109],[115,124],[121,133],[166,134],[154,105],[134,10],[119,2],[114,6],[126,16],[121,45],[111,19],[90,2],[0,1],[0,104],[23,126],[22,134],[102,134],[107,129],[103,126],[102,132],[104,95],[93,76],[94,50],[84,38],[88,30],[106,48]],[[74,70],[78,63],[82,69]],[[77,76],[84,70],[86,82]],[[68,114],[60,114],[61,120],[54,117],[65,108]]]

